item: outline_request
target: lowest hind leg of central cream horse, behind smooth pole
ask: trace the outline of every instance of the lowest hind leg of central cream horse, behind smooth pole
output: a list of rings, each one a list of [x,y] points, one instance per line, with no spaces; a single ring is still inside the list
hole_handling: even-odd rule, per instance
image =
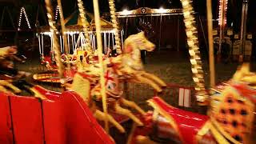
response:
[[[94,117],[100,121],[104,121],[106,118],[105,114],[100,110],[95,111]],[[126,130],[110,114],[107,114],[107,117],[109,122],[112,123],[121,133],[126,132]]]

